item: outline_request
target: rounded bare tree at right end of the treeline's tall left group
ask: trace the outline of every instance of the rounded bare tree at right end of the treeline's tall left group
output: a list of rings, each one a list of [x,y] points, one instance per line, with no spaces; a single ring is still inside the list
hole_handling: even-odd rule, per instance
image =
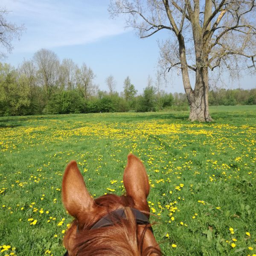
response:
[[[76,83],[79,90],[84,95],[84,99],[87,99],[95,91],[95,86],[93,85],[93,79],[96,76],[93,73],[93,70],[82,64],[81,69],[77,68],[76,70]]]

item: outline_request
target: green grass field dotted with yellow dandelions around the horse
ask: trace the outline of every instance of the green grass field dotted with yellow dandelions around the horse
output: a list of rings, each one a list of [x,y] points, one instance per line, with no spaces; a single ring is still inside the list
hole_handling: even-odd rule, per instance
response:
[[[0,255],[63,255],[65,166],[78,162],[94,197],[121,195],[129,152],[147,169],[166,256],[255,255],[256,106],[210,111],[210,124],[188,112],[1,117]]]

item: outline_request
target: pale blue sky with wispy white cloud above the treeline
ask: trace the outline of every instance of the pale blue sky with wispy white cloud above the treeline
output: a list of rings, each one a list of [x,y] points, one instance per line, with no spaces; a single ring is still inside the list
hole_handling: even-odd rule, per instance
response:
[[[6,19],[26,27],[20,41],[12,42],[14,49],[5,62],[17,67],[46,48],[55,52],[60,61],[71,58],[79,66],[85,63],[96,74],[94,83],[100,90],[108,90],[105,79],[112,75],[116,91],[121,92],[129,76],[142,93],[148,76],[154,80],[157,73],[157,41],[168,35],[162,30],[140,39],[132,28],[125,28],[124,17],[110,18],[108,4],[108,0],[1,0],[0,7],[11,11]],[[256,87],[256,76],[244,75],[232,82],[227,76],[225,80],[231,89]],[[174,73],[162,89],[184,93],[181,76]]]

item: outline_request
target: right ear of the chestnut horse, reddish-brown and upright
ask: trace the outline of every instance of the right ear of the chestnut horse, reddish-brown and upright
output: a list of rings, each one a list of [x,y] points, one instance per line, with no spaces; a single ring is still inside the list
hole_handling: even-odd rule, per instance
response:
[[[139,158],[128,154],[123,182],[126,195],[134,200],[135,207],[149,211],[147,197],[149,194],[148,175]]]

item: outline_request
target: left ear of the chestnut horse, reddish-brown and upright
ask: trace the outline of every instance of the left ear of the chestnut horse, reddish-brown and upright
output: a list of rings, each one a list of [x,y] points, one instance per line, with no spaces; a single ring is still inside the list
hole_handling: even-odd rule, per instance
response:
[[[64,207],[80,223],[84,214],[90,213],[95,206],[75,161],[71,161],[65,169],[61,194]]]

